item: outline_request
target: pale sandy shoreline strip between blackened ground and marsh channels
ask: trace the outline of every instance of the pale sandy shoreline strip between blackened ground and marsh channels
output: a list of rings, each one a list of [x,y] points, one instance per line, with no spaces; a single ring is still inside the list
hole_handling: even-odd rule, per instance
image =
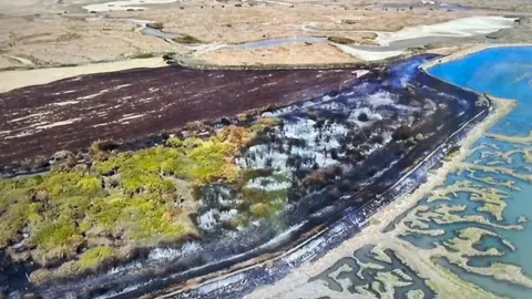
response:
[[[315,262],[311,262],[311,261],[306,262],[301,267],[296,268],[295,271],[293,271],[285,278],[289,280],[289,282],[286,282],[285,280],[285,283],[283,283],[284,280],[279,280],[278,282],[273,283],[270,286],[266,286],[264,288],[257,288],[253,293],[244,298],[246,299],[282,298],[279,297],[279,295],[291,292],[297,288],[309,289],[306,293],[316,293],[318,291],[323,292],[325,288],[316,289],[314,286],[307,285],[308,283],[307,280],[310,277],[318,275],[324,269],[327,269],[329,265],[334,264],[336,259],[344,256],[351,256],[354,251],[362,248],[365,245],[371,244],[371,240],[376,240],[377,241],[376,244],[383,245],[383,247],[389,245],[389,247],[392,247],[396,249],[406,249],[406,250],[413,249],[413,248],[403,248],[402,243],[396,244],[392,239],[389,238],[390,236],[382,233],[382,230],[390,223],[397,219],[397,217],[399,217],[401,214],[413,208],[419,203],[419,200],[421,200],[432,189],[434,189],[438,186],[441,186],[447,179],[448,174],[452,172],[456,167],[458,167],[459,164],[470,154],[470,151],[472,150],[472,145],[477,141],[479,141],[491,126],[497,124],[500,120],[504,118],[511,111],[513,111],[516,104],[516,101],[514,100],[498,99],[493,96],[490,96],[490,100],[492,100],[492,103],[497,107],[495,112],[491,113],[481,123],[477,124],[468,133],[467,137],[460,141],[461,148],[459,154],[452,156],[451,159],[442,161],[443,165],[439,167],[434,173],[430,174],[428,176],[427,182],[421,184],[413,193],[408,195],[402,195],[399,198],[393,199],[393,202],[391,202],[389,205],[386,205],[379,210],[377,210],[374,215],[371,215],[364,221],[364,224],[366,225],[364,226],[364,228],[360,229],[360,231],[356,233],[352,238],[341,243],[337,248],[332,249],[331,251],[328,251],[325,257],[316,260]],[[375,221],[374,219],[378,219],[378,221]],[[430,265],[426,265],[423,264],[422,260],[419,259],[419,257],[412,256],[412,255],[418,255],[418,251],[413,252],[412,255],[405,254],[402,252],[402,250],[400,251],[401,252],[397,252],[397,254],[400,255],[406,260],[408,260],[409,266],[411,266],[413,269],[429,268]],[[304,275],[297,275],[301,272]],[[439,277],[439,279],[442,279],[442,281],[452,281],[452,280],[446,279],[444,277]],[[453,282],[457,282],[457,281],[453,281]],[[287,286],[287,287],[284,287],[284,286]],[[464,283],[461,287],[469,289],[473,287],[473,285],[464,281]],[[299,296],[301,293],[298,293],[296,291],[295,293],[291,293],[291,295]]]

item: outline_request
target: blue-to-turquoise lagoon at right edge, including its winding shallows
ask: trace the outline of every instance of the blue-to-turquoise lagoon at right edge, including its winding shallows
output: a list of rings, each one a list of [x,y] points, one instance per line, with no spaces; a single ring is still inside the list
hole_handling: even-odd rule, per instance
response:
[[[456,85],[488,93],[498,97],[518,100],[518,106],[489,133],[505,136],[529,136],[532,132],[532,47],[492,48],[470,54],[466,58],[430,68],[428,72],[437,78]],[[487,136],[477,142],[477,148],[466,159],[472,165],[489,166],[499,169],[513,169],[514,174],[532,177],[532,163],[525,159],[524,152],[531,151],[532,143],[503,142]],[[504,155],[501,155],[504,154]],[[487,177],[491,177],[485,181]],[[518,178],[515,175],[487,173],[484,171],[464,169],[452,173],[447,177],[446,186],[459,182],[472,183],[475,186],[489,187],[504,195],[507,207],[502,218],[497,218],[488,212],[479,212],[482,203],[472,202],[471,193],[459,192],[449,196],[449,200],[428,202],[427,198],[419,205],[434,209],[439,205],[466,205],[467,208],[457,213],[459,216],[481,215],[488,221],[497,225],[516,225],[520,217],[532,220],[532,182]],[[515,182],[514,187],[503,186],[507,182]],[[522,219],[522,218],[521,218]],[[474,248],[488,250],[497,248],[502,256],[470,257],[468,265],[472,267],[489,267],[494,262],[511,264],[521,267],[522,272],[532,277],[532,227],[524,223],[523,229],[504,229],[477,223],[459,221],[456,224],[430,224],[430,229],[443,229],[444,235],[432,237],[427,235],[406,236],[405,239],[420,248],[431,248],[434,244],[444,244],[454,238],[458,231],[466,227],[479,227],[495,233],[498,236],[484,236]],[[502,239],[512,246],[504,245]],[[440,260],[441,261],[441,260]],[[518,283],[494,280],[489,276],[470,274],[460,267],[441,261],[446,268],[460,276],[462,279],[488,290],[494,295],[511,298],[532,298],[532,289]]]

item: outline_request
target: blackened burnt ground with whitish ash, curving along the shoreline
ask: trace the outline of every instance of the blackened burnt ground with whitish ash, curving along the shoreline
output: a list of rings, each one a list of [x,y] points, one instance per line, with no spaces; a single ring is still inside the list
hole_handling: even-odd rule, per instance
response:
[[[143,264],[142,268],[135,268],[134,271],[124,268],[120,275],[116,272],[100,274],[86,277],[85,279],[73,283],[54,286],[48,289],[34,289],[34,291],[42,295],[43,298],[62,298],[66,293],[83,293],[83,296],[86,298],[92,298],[98,295],[116,295],[120,292],[123,293],[117,296],[119,298],[132,298],[145,293],[153,295],[154,291],[158,292],[160,290],[162,291],[161,293],[164,293],[168,290],[175,290],[183,287],[183,283],[187,283],[190,281],[201,281],[201,279],[205,279],[208,276],[215,275],[219,270],[229,271],[232,269],[239,269],[239,267],[244,267],[243,265],[245,265],[245,262],[248,262],[254,258],[277,255],[284,249],[293,248],[295,244],[298,244],[299,241],[303,241],[311,236],[311,233],[316,231],[315,229],[319,227],[328,227],[337,221],[340,217],[342,217],[342,215],[345,215],[346,210],[360,210],[364,216],[366,216],[367,213],[372,213],[371,210],[375,208],[381,207],[383,204],[389,203],[398,195],[407,192],[413,185],[422,183],[427,171],[424,166],[421,167],[419,172],[413,172],[411,177],[408,175],[408,179],[405,178],[405,175],[407,175],[410,171],[417,169],[416,167],[418,167],[420,163],[424,163],[423,161],[426,157],[429,157],[432,155],[432,153],[440,151],[440,154],[437,154],[431,158],[433,159],[433,162],[431,162],[432,165],[436,165],[434,163],[438,163],[439,158],[447,153],[446,151],[454,146],[454,142],[451,137],[454,136],[457,132],[460,132],[470,122],[473,122],[474,120],[481,120],[488,115],[490,109],[489,106],[477,105],[477,101],[479,99],[478,94],[461,90],[457,86],[449,85],[446,82],[433,79],[417,68],[419,64],[430,59],[433,59],[433,56],[417,56],[406,61],[392,63],[387,70],[378,73],[374,72],[372,74],[366,75],[359,81],[355,80],[358,82],[351,82],[351,87],[349,87],[347,84],[346,91],[338,93],[336,96],[329,97],[326,101],[310,101],[314,103],[311,105],[309,105],[308,102],[299,102],[294,105],[270,111],[273,115],[279,111],[283,112],[279,114],[282,115],[279,117],[284,118],[283,132],[299,132],[295,136],[288,136],[288,136],[288,138],[290,138],[290,141],[294,138],[305,140],[306,136],[310,136],[306,147],[307,150],[311,150],[316,153],[320,153],[321,147],[316,147],[315,143],[317,142],[314,135],[308,133],[306,130],[293,130],[297,128],[297,126],[300,127],[301,124],[305,124],[304,122],[301,123],[300,120],[311,120],[311,115],[316,117],[323,116],[330,121],[328,122],[330,127],[325,127],[327,128],[325,131],[319,128],[319,126],[311,126],[314,130],[318,130],[320,132],[320,134],[318,134],[319,140],[323,138],[330,144],[334,144],[335,141],[338,142],[339,145],[348,143],[351,145],[366,145],[372,143],[380,144],[381,142],[378,142],[377,140],[374,141],[375,136],[372,135],[379,132],[379,134],[386,132],[382,132],[382,130],[379,127],[367,126],[368,132],[364,133],[361,127],[366,127],[366,125],[358,123],[367,122],[369,118],[386,121],[385,118],[388,117],[397,125],[401,123],[409,123],[411,124],[409,127],[412,128],[412,131],[407,134],[403,132],[403,130],[399,130],[401,127],[403,128],[402,125],[399,127],[397,127],[397,125],[391,125],[389,128],[395,131],[389,142],[386,144],[380,144],[376,147],[377,150],[371,153],[369,153],[368,150],[365,150],[365,152],[369,153],[368,156],[365,157],[360,163],[357,162],[354,164],[352,167],[341,174],[341,176],[337,176],[337,174],[335,174],[334,179],[330,178],[326,179],[327,182],[321,182],[325,184],[318,184],[319,182],[314,183],[314,185],[317,187],[316,192],[311,192],[310,194],[301,193],[300,195],[297,195],[296,197],[298,198],[295,198],[297,200],[294,200],[293,205],[290,205],[289,208],[284,212],[286,218],[283,218],[283,221],[286,221],[286,224],[290,227],[295,227],[298,224],[303,225],[298,226],[298,228],[295,230],[290,230],[290,233],[282,239],[278,239],[275,246],[267,245],[266,241],[272,240],[276,236],[278,237],[279,233],[285,229],[283,226],[280,226],[280,230],[278,231],[274,229],[274,226],[268,224],[259,227],[254,226],[248,230],[238,233],[237,237],[226,235],[224,233],[225,230],[221,226],[221,230],[213,230],[208,236],[205,235],[204,240],[202,240],[203,250],[194,250],[193,252],[188,252],[183,259],[178,258],[173,261],[164,262],[164,265],[145,262]],[[174,72],[175,69],[172,71]],[[183,72],[183,69],[177,69],[176,71]],[[207,72],[206,76],[208,76],[209,73],[215,72]],[[330,74],[330,72],[325,73]],[[338,71],[337,74],[341,75],[336,78],[334,76],[334,73],[335,72],[332,72],[330,75],[330,81],[339,80],[341,79],[341,75],[355,78],[355,74],[350,74],[349,71]],[[225,74],[227,74],[227,72],[225,72]],[[316,73],[316,71],[314,71],[314,75],[323,78],[323,75],[320,76],[319,73]],[[297,81],[297,79],[295,80]],[[102,81],[102,84],[106,84],[106,82]],[[112,83],[111,86],[114,86],[114,89],[117,90],[129,87],[122,86],[117,82]],[[327,83],[324,83],[323,86],[324,87],[320,94],[334,89],[332,83],[329,83],[329,89],[327,89]],[[310,87],[315,87],[316,93],[319,92],[319,90],[316,90],[316,86]],[[336,89],[339,86],[336,85]],[[100,91],[102,90],[105,90],[105,87],[100,89]],[[69,90],[64,91],[65,92],[63,93],[66,94],[74,93],[70,92]],[[99,95],[102,95],[106,92],[108,91],[100,92]],[[182,94],[186,93],[182,92]],[[294,94],[297,94],[297,92],[294,92]],[[236,93],[236,95],[238,95],[238,93]],[[236,95],[234,97],[239,97]],[[215,99],[211,99],[212,101],[215,101]],[[86,95],[83,100],[86,100]],[[297,99],[287,99],[286,101],[291,102],[293,100]],[[324,99],[320,97],[320,100]],[[198,101],[192,100],[193,103]],[[238,103],[239,101],[234,102]],[[116,103],[116,101],[113,103]],[[246,102],[244,101],[244,103]],[[75,103],[71,104],[76,105]],[[366,110],[368,109],[367,105],[372,106],[371,111],[368,112]],[[62,107],[61,105],[59,106]],[[106,105],[106,107],[112,105]],[[207,110],[207,112],[223,111],[227,113],[226,111],[233,111],[232,109],[234,107],[227,107],[225,110],[219,107]],[[147,110],[149,109],[146,107],[146,111]],[[352,118],[350,117],[354,115],[352,112],[356,112],[357,110],[366,111],[368,113],[366,114],[367,120],[364,121],[364,117],[361,118],[359,117],[360,115],[357,114],[358,116],[355,117],[357,121],[355,122],[357,123],[357,126],[359,126],[357,131],[358,133],[355,132],[354,127],[346,127],[346,132],[364,135],[365,141],[362,140],[362,142],[360,142],[359,138],[347,138],[349,137],[349,134],[346,135],[346,138],[335,140],[335,136],[338,135],[335,132],[340,132],[341,130],[338,131],[334,128],[338,128],[339,125],[349,122],[349,120]],[[156,111],[157,112],[154,112],[153,115],[161,115],[165,112],[164,107],[163,110],[157,107]],[[191,109],[191,111],[193,110]],[[323,113],[320,113],[320,111]],[[381,117],[376,117],[376,115],[374,115],[375,113],[378,113]],[[124,118],[135,115],[137,114],[130,114],[120,117]],[[229,114],[228,116],[232,115]],[[166,120],[170,118],[172,122],[177,122],[173,121],[168,116],[166,117]],[[142,118],[143,117],[122,120],[122,122]],[[79,122],[82,121],[83,118]],[[117,125],[113,124],[111,127],[120,128],[121,122],[117,121]],[[74,124],[76,123],[74,122]],[[132,127],[127,126],[127,124],[124,126]],[[135,127],[139,126],[140,125],[136,125]],[[96,126],[96,128],[99,127],[106,128],[105,125]],[[285,130],[285,127],[288,128]],[[385,128],[387,126],[385,125]],[[90,132],[98,130],[90,130]],[[119,130],[117,132],[121,133],[122,131]],[[272,131],[268,132],[272,133]],[[332,132],[335,134],[330,135],[327,132]],[[402,133],[398,134],[397,132]],[[421,137],[416,137],[418,142],[415,142],[412,136],[417,136],[417,134],[421,134]],[[397,136],[395,137],[395,135]],[[135,134],[135,137],[139,135]],[[278,143],[279,138],[275,138],[275,141]],[[274,153],[277,151],[275,148],[285,148],[284,146],[275,146],[275,142],[272,138],[267,144],[270,144],[268,145],[270,147],[268,147],[268,151],[265,153]],[[257,146],[260,147],[260,145]],[[340,147],[341,146],[338,148]],[[342,155],[339,155],[338,153],[342,153],[344,150],[336,154],[337,157],[334,157],[332,153],[327,154],[327,148],[328,147],[324,147],[324,151],[326,152],[324,155],[325,157],[329,156],[334,159],[341,159]],[[262,155],[259,156],[259,159],[262,161]],[[316,159],[316,156],[314,158]],[[355,157],[355,159],[357,158]],[[340,162],[342,165],[348,163],[348,161]],[[208,208],[213,208],[213,206],[208,206]],[[139,260],[143,259],[141,258]],[[16,268],[18,267],[17,265],[11,266]],[[12,272],[13,275],[9,275],[10,287],[17,291],[21,289],[28,290],[29,285],[23,276],[24,269],[18,267],[17,269],[13,269]],[[145,281],[150,282],[137,289],[131,288],[132,286],[136,286]],[[257,281],[250,281],[247,279],[245,281],[247,281],[246,283],[252,285],[258,283]],[[81,298],[83,298],[83,296]],[[212,293],[208,293],[208,297],[212,297]],[[219,298],[222,297],[223,296],[219,296]],[[234,298],[234,290],[232,290],[232,293],[227,298]]]

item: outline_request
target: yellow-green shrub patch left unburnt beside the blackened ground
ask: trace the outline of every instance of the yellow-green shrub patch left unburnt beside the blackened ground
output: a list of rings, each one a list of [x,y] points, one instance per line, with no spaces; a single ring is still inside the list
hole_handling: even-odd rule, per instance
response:
[[[180,200],[191,195],[180,194],[180,184],[242,183],[234,159],[254,135],[229,126],[208,138],[170,138],[119,154],[96,144],[89,167],[74,163],[42,176],[0,179],[0,250],[17,245],[20,259],[41,266],[31,280],[45,283],[98,270],[137,247],[197,238],[187,214],[193,209]],[[250,202],[273,209],[270,199],[254,196]]]

